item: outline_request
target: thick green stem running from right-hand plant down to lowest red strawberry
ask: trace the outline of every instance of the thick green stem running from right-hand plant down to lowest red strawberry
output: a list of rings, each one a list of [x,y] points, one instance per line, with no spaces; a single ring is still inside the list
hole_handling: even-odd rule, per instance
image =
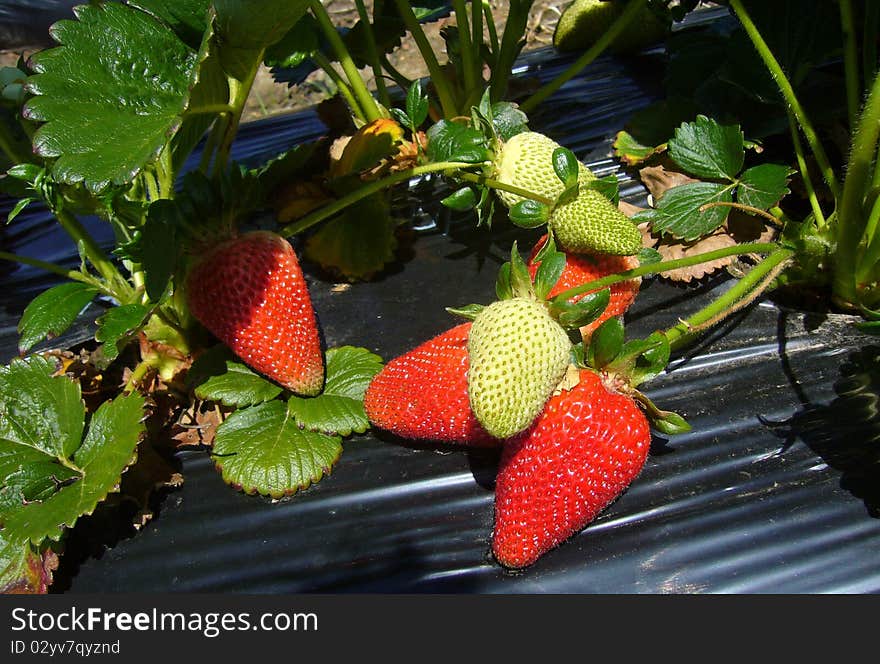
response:
[[[686,345],[709,327],[754,302],[773,283],[793,256],[791,249],[778,247],[723,295],[693,316],[666,330],[670,347],[675,350]]]

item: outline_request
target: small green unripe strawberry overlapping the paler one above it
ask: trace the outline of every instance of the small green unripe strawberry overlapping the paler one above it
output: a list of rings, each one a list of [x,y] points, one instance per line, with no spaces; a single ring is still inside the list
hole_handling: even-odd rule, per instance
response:
[[[642,248],[638,226],[595,189],[581,187],[577,198],[556,206],[547,226],[560,248],[577,254],[631,256]]]

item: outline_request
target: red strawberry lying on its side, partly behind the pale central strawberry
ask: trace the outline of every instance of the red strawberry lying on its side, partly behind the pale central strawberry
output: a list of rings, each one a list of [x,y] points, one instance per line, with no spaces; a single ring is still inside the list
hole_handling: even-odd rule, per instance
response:
[[[403,438],[500,444],[468,402],[470,329],[471,323],[458,325],[386,364],[364,395],[370,422]]]

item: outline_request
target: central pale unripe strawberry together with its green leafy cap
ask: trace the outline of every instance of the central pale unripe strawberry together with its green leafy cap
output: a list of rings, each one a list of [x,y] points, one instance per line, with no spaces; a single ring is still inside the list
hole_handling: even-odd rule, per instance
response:
[[[590,322],[608,303],[607,289],[576,303],[547,302],[564,268],[564,254],[548,250],[532,281],[514,244],[510,262],[499,271],[499,299],[450,309],[473,320],[468,397],[477,420],[496,438],[516,435],[534,421],[570,364],[567,330]]]

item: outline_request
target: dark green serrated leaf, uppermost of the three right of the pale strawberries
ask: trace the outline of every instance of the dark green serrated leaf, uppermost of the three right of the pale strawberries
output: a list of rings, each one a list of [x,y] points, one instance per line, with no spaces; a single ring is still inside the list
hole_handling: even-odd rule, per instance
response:
[[[721,125],[698,115],[675,130],[669,156],[692,175],[732,180],[745,159],[743,133],[739,125]]]

